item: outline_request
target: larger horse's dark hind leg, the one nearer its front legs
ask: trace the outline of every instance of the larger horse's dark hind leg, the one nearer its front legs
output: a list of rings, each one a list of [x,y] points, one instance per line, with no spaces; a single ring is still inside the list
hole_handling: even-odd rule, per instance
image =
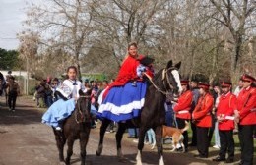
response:
[[[122,142],[122,138],[125,130],[126,130],[125,123],[118,123],[118,130],[115,134],[115,138],[116,138],[117,157],[120,160],[124,160],[121,142]]]

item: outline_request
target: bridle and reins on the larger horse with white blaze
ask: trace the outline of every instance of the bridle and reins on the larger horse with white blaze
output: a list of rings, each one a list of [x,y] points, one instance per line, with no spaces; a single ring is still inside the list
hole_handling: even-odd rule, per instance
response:
[[[150,82],[153,84],[153,86],[160,91],[163,95],[169,95],[170,91],[167,89],[167,85],[169,86],[170,90],[172,91],[174,89],[174,86],[171,84],[169,77],[168,77],[168,71],[176,69],[175,67],[170,67],[168,69],[163,69],[161,74],[161,81],[163,82],[165,91],[162,91],[159,86],[157,86],[152,78],[147,74],[144,73],[144,75],[150,80]],[[167,83],[167,84],[166,84]]]

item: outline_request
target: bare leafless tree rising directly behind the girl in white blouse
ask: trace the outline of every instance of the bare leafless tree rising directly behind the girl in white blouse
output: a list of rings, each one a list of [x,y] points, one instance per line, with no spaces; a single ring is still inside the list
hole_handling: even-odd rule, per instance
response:
[[[32,30],[40,34],[39,44],[44,47],[42,51],[61,49],[74,57],[79,79],[80,57],[86,54],[86,42],[94,31],[87,3],[82,0],[48,0],[47,4],[32,4],[28,8],[26,21]]]

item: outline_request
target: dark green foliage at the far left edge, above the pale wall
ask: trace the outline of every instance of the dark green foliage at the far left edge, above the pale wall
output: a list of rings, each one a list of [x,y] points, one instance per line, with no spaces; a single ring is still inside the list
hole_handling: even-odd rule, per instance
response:
[[[16,50],[5,50],[0,48],[0,69],[13,70],[19,66],[19,53]]]

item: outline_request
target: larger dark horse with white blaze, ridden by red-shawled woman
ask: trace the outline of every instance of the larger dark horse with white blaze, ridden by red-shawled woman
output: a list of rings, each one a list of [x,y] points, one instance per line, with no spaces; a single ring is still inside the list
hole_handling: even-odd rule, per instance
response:
[[[181,92],[180,76],[178,69],[181,62],[172,65],[170,60],[164,69],[161,69],[155,77],[150,80],[145,96],[145,104],[141,110],[139,118],[127,120],[118,123],[118,130],[116,132],[116,148],[117,156],[120,160],[125,160],[121,150],[121,141],[123,134],[128,127],[139,127],[139,143],[138,153],[136,156],[137,165],[142,165],[141,154],[144,147],[144,137],[150,128],[156,133],[159,164],[164,165],[162,157],[162,125],[165,123],[165,109],[164,102],[166,95],[172,93],[172,96],[178,96]],[[103,119],[100,127],[100,139],[96,150],[96,155],[100,156],[103,149],[103,138],[110,120]]]

